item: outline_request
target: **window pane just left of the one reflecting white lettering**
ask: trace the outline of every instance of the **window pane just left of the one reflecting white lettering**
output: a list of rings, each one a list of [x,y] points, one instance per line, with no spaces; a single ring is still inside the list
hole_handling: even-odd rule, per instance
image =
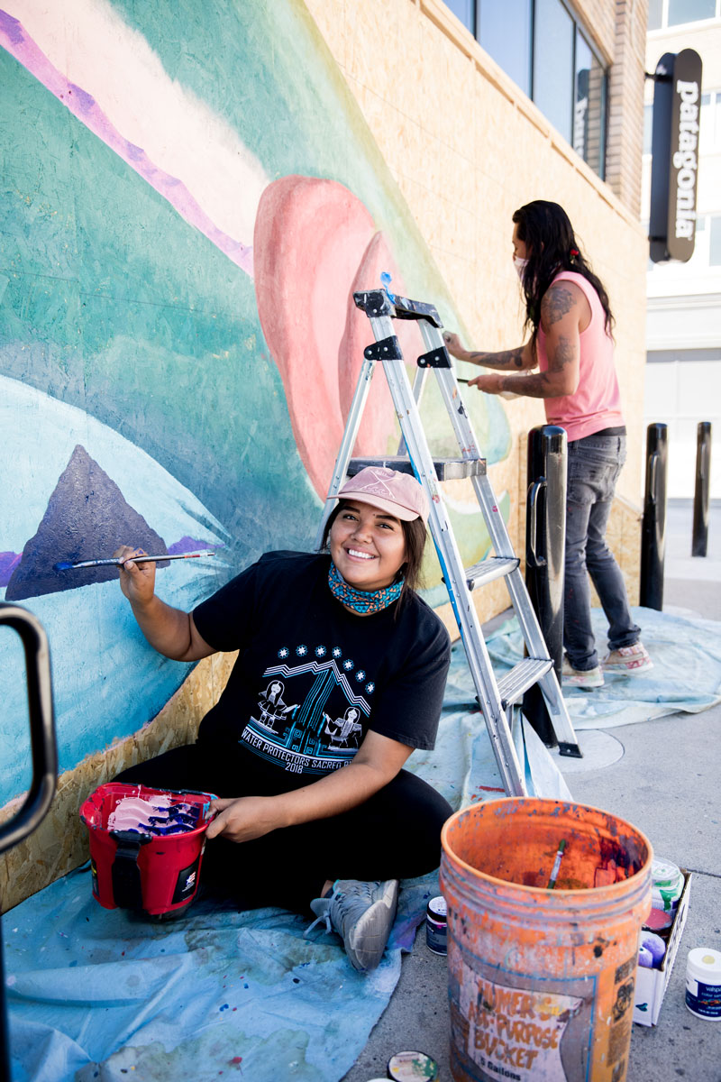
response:
[[[560,0],[536,0],[533,27],[533,100],[572,142],[573,19]]]

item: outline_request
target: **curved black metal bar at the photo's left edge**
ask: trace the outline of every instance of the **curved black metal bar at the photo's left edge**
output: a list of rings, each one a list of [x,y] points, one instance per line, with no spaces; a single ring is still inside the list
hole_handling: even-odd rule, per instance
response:
[[[40,621],[31,612],[16,605],[0,605],[0,624],[3,623],[17,632],[25,651],[32,779],[19,810],[0,827],[0,853],[17,845],[40,824],[55,794],[57,780],[57,749],[48,637]],[[10,1082],[4,989],[0,928],[0,1082]]]

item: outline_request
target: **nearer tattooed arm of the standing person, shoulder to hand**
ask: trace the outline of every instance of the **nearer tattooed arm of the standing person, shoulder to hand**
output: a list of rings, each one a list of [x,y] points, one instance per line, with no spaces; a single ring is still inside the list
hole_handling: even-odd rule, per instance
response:
[[[544,294],[540,326],[546,333],[548,370],[533,375],[478,375],[469,381],[490,395],[511,392],[529,398],[560,398],[578,386],[579,337],[590,320],[584,293],[571,281],[560,281]]]

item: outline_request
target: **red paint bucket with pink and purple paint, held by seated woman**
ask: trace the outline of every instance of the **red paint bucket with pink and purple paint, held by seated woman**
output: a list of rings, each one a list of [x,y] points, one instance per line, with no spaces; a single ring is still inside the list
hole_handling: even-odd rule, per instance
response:
[[[212,793],[111,781],[80,808],[93,894],[105,909],[179,911],[196,896]]]

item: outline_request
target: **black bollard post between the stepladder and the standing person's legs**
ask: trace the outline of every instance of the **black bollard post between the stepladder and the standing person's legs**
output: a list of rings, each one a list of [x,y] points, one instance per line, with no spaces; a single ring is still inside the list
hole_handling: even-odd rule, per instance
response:
[[[563,665],[563,562],[565,556],[566,434],[556,424],[529,433],[525,511],[525,584],[561,683]],[[547,748],[556,748],[540,688],[523,696],[523,714]]]

